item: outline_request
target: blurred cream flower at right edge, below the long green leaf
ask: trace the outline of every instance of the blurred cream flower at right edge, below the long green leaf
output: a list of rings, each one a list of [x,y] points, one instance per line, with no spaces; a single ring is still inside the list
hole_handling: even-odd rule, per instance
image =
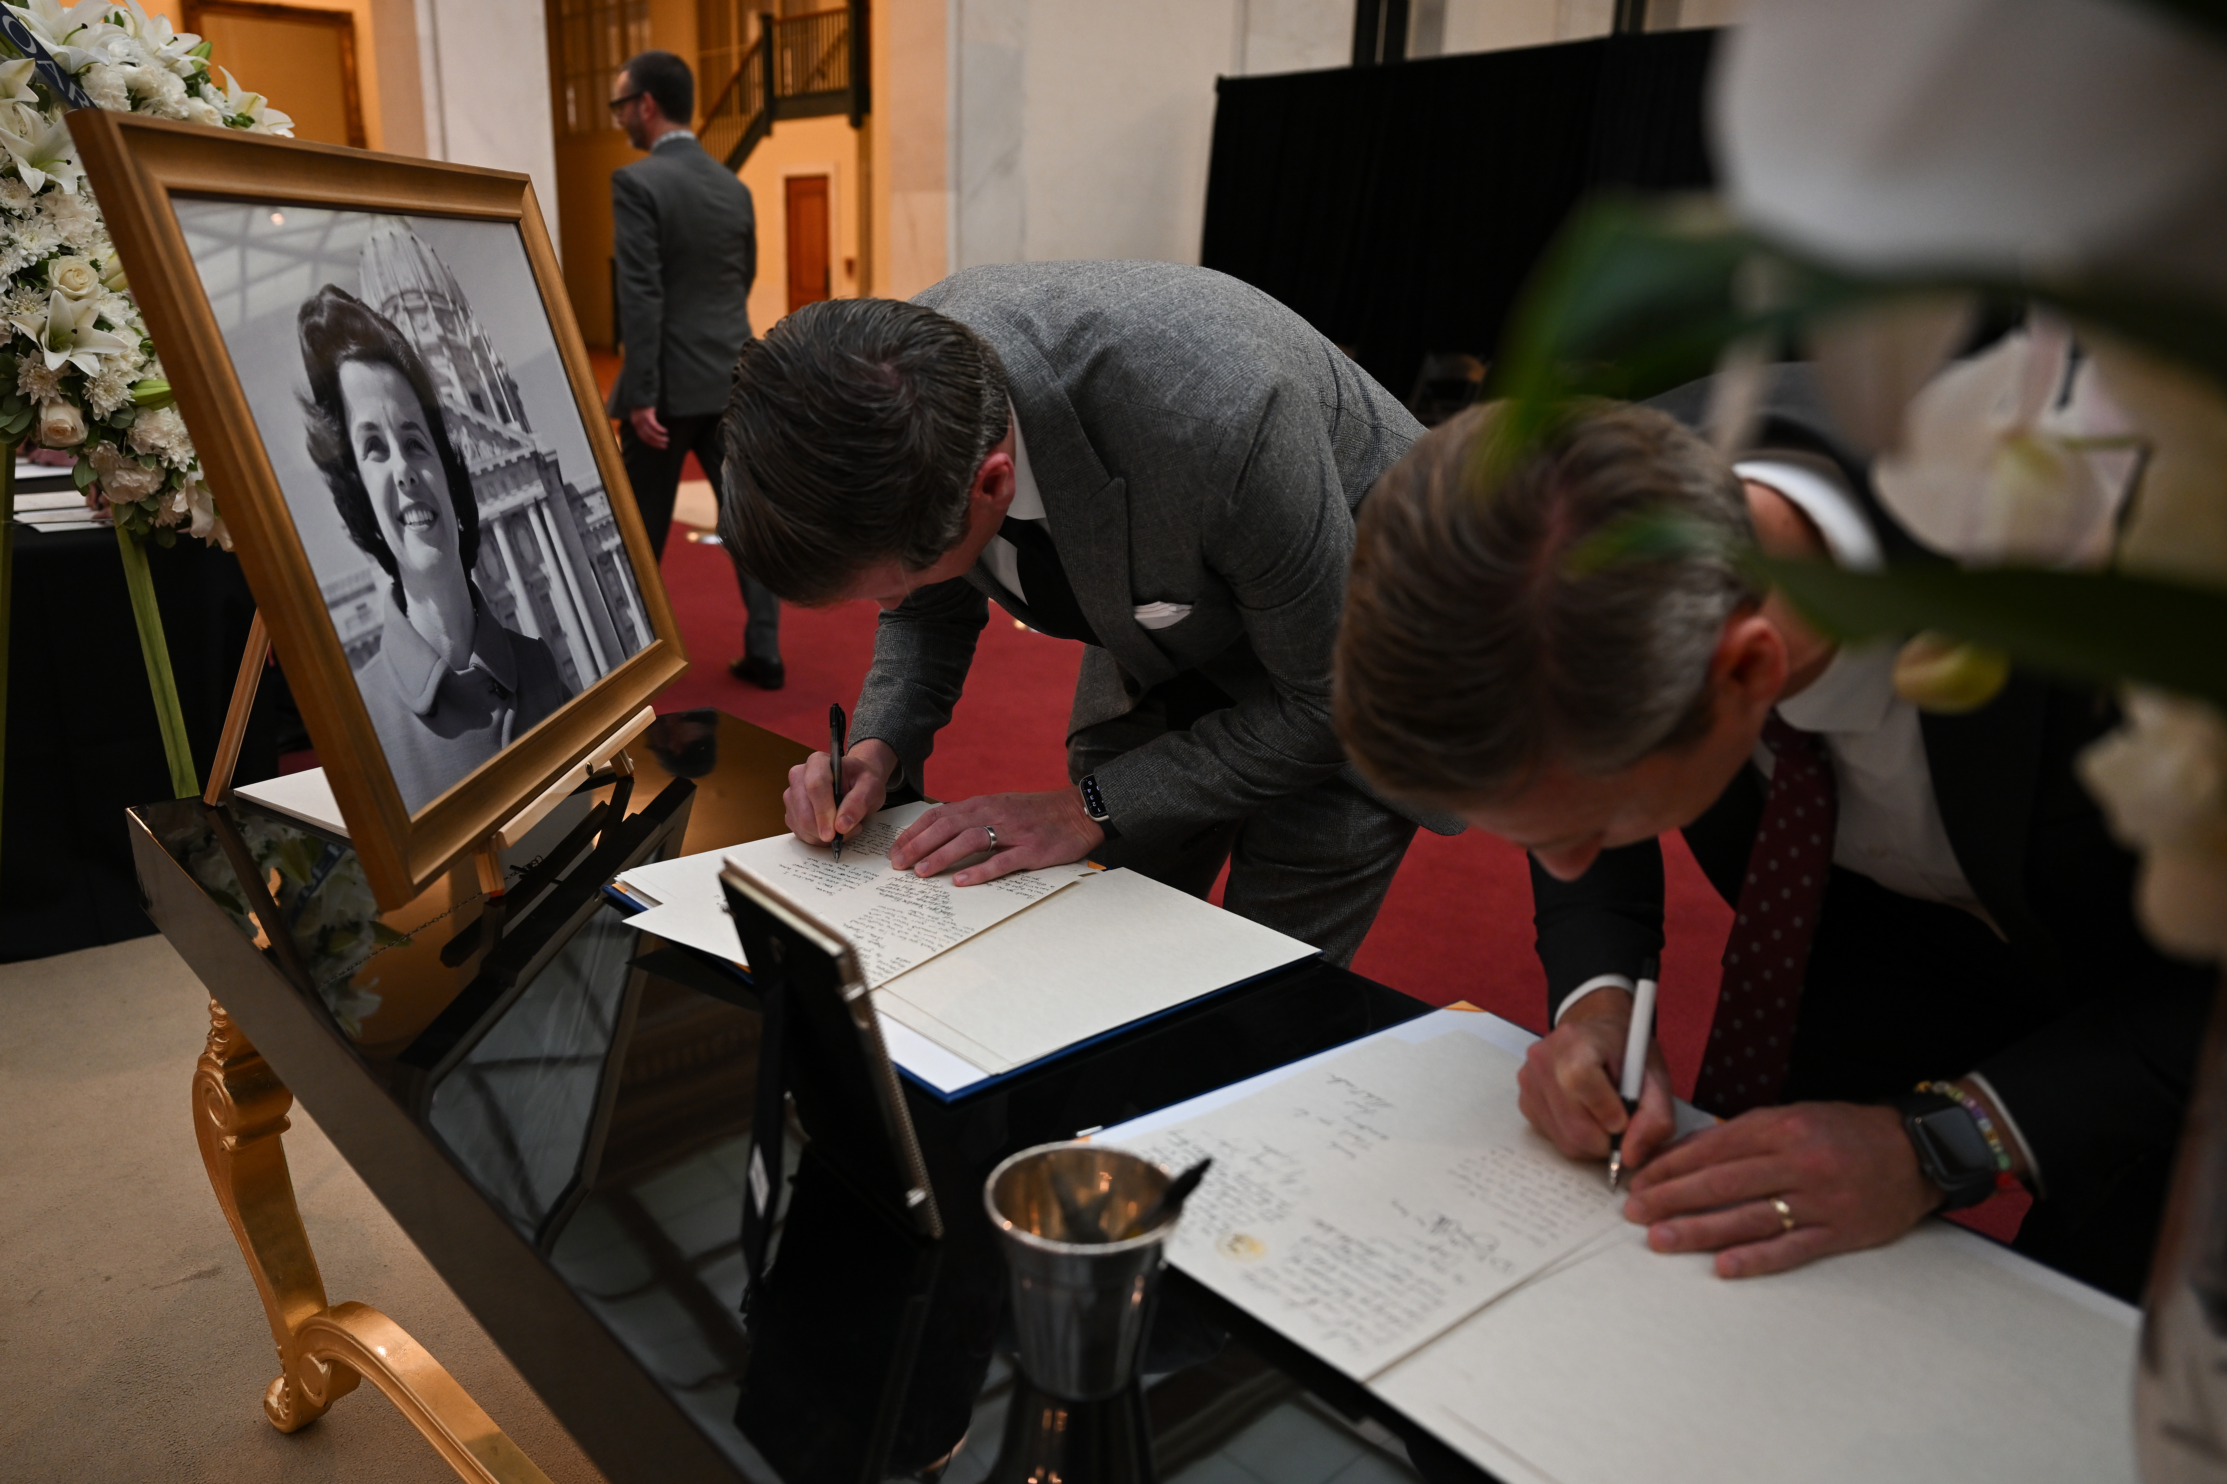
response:
[[[2227,725],[2200,701],[2127,694],[2127,723],[2080,754],[2120,843],[2140,850],[2136,908],[2158,946],[2227,957]]]

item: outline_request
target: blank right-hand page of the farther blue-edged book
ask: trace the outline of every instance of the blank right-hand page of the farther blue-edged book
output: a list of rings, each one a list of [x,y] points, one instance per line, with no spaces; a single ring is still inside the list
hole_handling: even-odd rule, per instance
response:
[[[1009,1072],[1314,952],[1134,870],[1107,870],[967,952],[891,979],[873,1003],[973,1066]]]

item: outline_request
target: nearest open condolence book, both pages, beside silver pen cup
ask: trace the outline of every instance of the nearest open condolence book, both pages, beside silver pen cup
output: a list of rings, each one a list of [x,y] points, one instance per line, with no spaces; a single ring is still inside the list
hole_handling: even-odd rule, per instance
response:
[[[1441,1010],[1098,1137],[1211,1155],[1169,1262],[1505,1484],[2131,1484],[2133,1308],[1949,1221],[1652,1253],[1517,1112],[1530,1041]]]

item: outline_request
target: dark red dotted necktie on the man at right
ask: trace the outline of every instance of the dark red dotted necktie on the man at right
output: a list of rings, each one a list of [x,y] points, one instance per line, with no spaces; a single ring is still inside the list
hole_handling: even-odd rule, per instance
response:
[[[1833,763],[1815,732],[1777,712],[1764,723],[1775,754],[1764,819],[1755,828],[1739,910],[1724,943],[1717,1019],[1708,1028],[1695,1108],[1733,1117],[1779,1099],[1795,1043],[1795,1010],[1817,910],[1833,870]]]

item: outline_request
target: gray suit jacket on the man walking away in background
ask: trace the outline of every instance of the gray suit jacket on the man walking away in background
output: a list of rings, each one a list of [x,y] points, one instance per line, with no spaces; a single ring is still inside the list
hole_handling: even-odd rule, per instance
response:
[[[719,412],[735,356],[750,338],[750,187],[693,138],[664,138],[612,171],[610,216],[619,260],[612,309],[626,347],[610,416],[635,407],[677,418]]]

